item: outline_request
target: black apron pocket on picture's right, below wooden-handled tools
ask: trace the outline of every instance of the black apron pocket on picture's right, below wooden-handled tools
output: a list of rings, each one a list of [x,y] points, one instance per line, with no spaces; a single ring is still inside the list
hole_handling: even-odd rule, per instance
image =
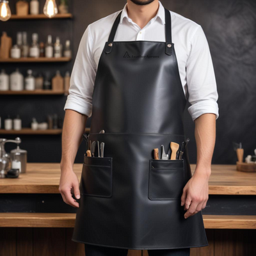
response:
[[[184,186],[184,159],[150,159],[148,182],[150,200],[180,200]]]

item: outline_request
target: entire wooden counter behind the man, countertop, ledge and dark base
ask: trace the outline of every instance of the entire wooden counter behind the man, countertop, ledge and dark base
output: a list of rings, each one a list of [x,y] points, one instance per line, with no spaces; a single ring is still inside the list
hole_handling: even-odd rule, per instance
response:
[[[79,179],[81,170],[74,164]],[[256,255],[255,180],[256,173],[237,172],[236,165],[212,165],[202,211],[209,246],[191,248],[191,256]],[[59,163],[29,163],[18,179],[0,179],[0,255],[84,256],[84,244],[71,240],[77,209],[63,202],[59,181]]]

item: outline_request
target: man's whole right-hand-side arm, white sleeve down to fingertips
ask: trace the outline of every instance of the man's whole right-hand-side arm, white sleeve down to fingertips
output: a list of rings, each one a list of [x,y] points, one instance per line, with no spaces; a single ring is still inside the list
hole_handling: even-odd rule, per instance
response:
[[[181,196],[181,205],[188,210],[188,218],[205,208],[208,200],[208,182],[216,139],[218,112],[217,84],[212,65],[211,52],[201,26],[189,40],[190,47],[186,63],[188,84],[188,111],[195,122],[196,170],[187,182]]]

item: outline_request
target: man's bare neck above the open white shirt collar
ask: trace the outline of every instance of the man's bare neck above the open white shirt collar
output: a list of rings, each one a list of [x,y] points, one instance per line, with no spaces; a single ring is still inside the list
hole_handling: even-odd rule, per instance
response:
[[[134,4],[132,1],[127,0],[127,15],[141,29],[148,24],[149,20],[156,16],[158,8],[158,0],[146,5]]]

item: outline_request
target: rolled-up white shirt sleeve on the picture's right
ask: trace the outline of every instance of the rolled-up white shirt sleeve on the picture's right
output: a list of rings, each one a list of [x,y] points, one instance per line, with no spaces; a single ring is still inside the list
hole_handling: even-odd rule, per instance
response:
[[[211,52],[202,27],[199,25],[191,38],[191,49],[186,63],[188,84],[188,111],[193,122],[200,115],[214,113],[219,116],[218,92]]]

